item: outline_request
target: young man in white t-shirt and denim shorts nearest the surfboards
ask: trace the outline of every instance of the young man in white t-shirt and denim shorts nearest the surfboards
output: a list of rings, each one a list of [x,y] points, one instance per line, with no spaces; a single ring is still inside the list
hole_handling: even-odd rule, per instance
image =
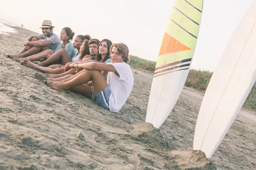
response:
[[[103,64],[91,60],[82,64],[71,64],[71,68],[84,69],[67,82],[47,81],[47,85],[59,91],[74,91],[84,96],[91,96],[97,105],[112,112],[118,112],[131,93],[134,77],[128,65],[130,61],[128,47],[123,43],[111,45],[112,63]],[[108,72],[105,80],[102,72]],[[92,81],[93,87],[86,85]]]

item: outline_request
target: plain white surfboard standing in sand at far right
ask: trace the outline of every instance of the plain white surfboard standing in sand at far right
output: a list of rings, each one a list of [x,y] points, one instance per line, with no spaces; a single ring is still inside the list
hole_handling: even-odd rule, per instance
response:
[[[256,1],[236,28],[209,82],[195,127],[194,150],[215,152],[256,81]]]

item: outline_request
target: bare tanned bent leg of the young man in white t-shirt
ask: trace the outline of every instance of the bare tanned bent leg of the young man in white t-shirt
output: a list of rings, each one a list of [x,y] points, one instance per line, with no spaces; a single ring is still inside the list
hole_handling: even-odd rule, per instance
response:
[[[103,91],[108,86],[102,72],[97,70],[84,70],[83,72],[81,72],[81,74],[77,75],[70,81],[64,83],[48,81],[47,85],[59,91],[68,91],[69,89],[72,90],[72,88],[76,86],[86,84],[90,80],[93,81],[93,91],[95,92],[95,94],[99,93],[100,91]],[[89,88],[76,88],[73,90],[79,94],[91,93],[89,91]]]

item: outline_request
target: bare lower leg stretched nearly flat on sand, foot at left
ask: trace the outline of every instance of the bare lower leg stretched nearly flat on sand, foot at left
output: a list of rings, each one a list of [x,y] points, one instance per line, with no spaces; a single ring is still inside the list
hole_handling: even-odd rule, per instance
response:
[[[38,69],[44,73],[60,74],[64,71],[64,67],[61,67],[61,68],[43,67],[43,66],[37,65],[37,64],[35,64],[29,60],[26,60],[26,59],[23,61],[23,65],[25,65],[26,67]]]

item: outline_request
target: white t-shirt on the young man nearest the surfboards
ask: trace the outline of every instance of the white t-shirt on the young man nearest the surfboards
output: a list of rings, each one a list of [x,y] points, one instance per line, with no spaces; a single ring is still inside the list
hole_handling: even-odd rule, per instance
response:
[[[119,74],[118,77],[114,72],[108,72],[107,78],[107,83],[111,91],[109,97],[109,110],[111,112],[118,112],[131,94],[134,77],[130,65],[127,63],[118,62],[108,64],[112,64]]]

